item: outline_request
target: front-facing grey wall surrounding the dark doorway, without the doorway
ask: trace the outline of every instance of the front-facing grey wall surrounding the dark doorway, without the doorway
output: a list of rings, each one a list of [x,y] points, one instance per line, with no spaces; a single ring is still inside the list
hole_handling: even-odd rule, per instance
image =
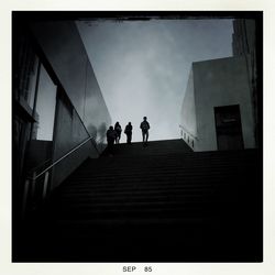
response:
[[[194,63],[197,151],[217,150],[215,107],[239,105],[244,147],[255,147],[252,100],[244,57]]]

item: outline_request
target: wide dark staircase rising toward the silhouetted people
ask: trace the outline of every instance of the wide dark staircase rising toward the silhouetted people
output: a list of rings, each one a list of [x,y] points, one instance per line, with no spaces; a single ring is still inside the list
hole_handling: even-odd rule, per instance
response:
[[[182,140],[116,145],[57,188],[19,257],[261,262],[260,160],[256,150],[194,153]]]

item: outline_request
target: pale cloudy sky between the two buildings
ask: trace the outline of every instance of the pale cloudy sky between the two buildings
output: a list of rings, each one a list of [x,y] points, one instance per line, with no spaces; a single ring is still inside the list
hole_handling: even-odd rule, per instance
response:
[[[179,113],[193,62],[232,56],[232,20],[77,22],[112,118],[131,121],[141,141],[179,139]],[[122,142],[125,141],[122,134]]]

